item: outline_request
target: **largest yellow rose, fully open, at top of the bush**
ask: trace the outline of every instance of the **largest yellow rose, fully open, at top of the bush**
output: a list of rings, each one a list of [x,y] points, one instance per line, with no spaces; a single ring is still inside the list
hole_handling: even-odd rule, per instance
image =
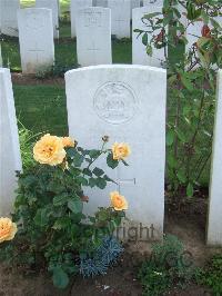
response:
[[[60,165],[63,162],[65,155],[62,139],[50,136],[50,134],[44,135],[33,148],[34,159],[43,165]]]

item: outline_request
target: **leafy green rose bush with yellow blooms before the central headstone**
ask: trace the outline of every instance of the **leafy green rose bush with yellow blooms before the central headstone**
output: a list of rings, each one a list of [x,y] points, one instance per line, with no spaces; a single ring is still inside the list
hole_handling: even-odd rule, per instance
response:
[[[0,257],[23,268],[46,268],[52,274],[56,286],[64,288],[70,276],[80,272],[81,258],[93,257],[104,238],[111,237],[125,216],[128,203],[118,191],[110,194],[109,207],[99,207],[94,216],[83,214],[90,203],[84,187],[104,189],[114,180],[97,167],[97,160],[107,156],[114,169],[120,162],[128,165],[127,144],[87,150],[69,137],[49,134],[33,147],[36,166],[19,175],[13,223],[0,219]],[[109,199],[109,196],[108,196]],[[18,234],[12,239],[18,227]]]

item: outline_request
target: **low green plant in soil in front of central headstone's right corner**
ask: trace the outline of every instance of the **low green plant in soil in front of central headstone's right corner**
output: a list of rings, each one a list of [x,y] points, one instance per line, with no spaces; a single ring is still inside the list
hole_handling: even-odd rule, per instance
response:
[[[143,263],[139,279],[143,295],[165,295],[172,287],[184,288],[194,275],[191,254],[174,236],[168,235],[162,244],[152,246],[151,258]]]

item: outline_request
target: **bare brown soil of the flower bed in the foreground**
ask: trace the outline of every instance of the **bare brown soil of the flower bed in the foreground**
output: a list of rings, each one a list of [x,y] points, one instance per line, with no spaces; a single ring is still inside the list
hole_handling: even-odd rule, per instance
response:
[[[195,204],[196,201],[194,201]],[[194,204],[190,203],[182,213],[172,211],[167,206],[164,233],[178,236],[192,254],[195,265],[203,266],[212,254],[222,249],[205,245],[205,199],[198,200],[196,213]],[[171,210],[170,210],[171,208]],[[111,267],[107,275],[95,278],[74,277],[68,289],[57,290],[46,274],[22,275],[0,266],[0,296],[141,296],[142,287],[137,280],[137,270],[150,255],[148,243],[128,245],[118,264]],[[195,285],[185,290],[173,289],[170,296],[210,296],[211,293]]]

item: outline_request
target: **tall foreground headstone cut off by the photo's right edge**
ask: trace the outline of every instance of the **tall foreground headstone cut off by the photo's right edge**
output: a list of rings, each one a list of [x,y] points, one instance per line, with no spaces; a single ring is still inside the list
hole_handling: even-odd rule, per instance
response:
[[[211,166],[208,244],[222,246],[222,70],[218,75],[218,103]]]

